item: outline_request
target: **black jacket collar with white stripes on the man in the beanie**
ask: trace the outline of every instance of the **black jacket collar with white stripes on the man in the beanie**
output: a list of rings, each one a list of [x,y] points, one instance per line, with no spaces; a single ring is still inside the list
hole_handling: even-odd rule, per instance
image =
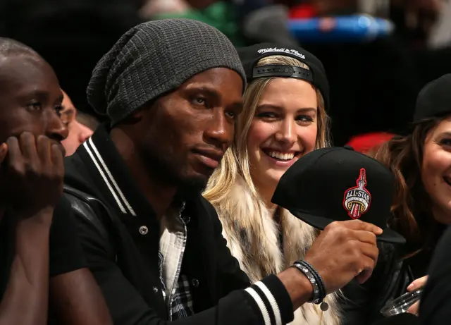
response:
[[[126,223],[136,223],[140,226],[140,217],[152,216],[153,223],[158,223],[156,214],[146,197],[138,188],[133,180],[128,166],[118,153],[116,146],[111,141],[106,125],[101,125],[96,132],[83,145],[81,145],[75,157],[70,159],[73,162],[73,169],[80,169],[74,161],[82,160],[82,166],[85,166],[89,173],[89,186],[91,192],[98,192],[102,199],[116,209],[122,216],[138,216],[138,218],[121,218]],[[67,172],[67,171],[66,171]],[[198,236],[192,238],[197,245],[197,252],[201,252],[206,281],[211,297],[217,297],[217,257],[216,257],[216,236],[221,236],[221,232],[214,233],[215,222],[219,223],[214,207],[207,202],[202,195],[196,194],[187,197],[187,209],[184,214],[190,217],[192,226],[199,230]],[[215,221],[216,219],[216,221]],[[159,226],[149,227],[159,229]],[[155,235],[159,238],[159,235]]]

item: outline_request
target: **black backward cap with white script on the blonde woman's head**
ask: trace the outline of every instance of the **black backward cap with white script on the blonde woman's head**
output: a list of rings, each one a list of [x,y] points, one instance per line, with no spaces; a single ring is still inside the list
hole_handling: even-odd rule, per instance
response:
[[[237,51],[240,55],[242,66],[245,68],[247,82],[263,77],[302,79],[319,89],[323,95],[326,109],[329,108],[329,82],[326,77],[326,71],[323,63],[309,51],[302,49],[302,47],[287,47],[276,43],[255,44],[250,47],[241,47]],[[260,59],[273,55],[290,56],[307,64],[310,70],[279,64],[257,67]]]

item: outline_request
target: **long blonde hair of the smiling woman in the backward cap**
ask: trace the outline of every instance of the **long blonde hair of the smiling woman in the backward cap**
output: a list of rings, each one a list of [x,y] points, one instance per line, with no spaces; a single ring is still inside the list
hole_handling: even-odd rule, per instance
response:
[[[290,65],[309,69],[309,66],[297,59],[280,55],[266,56],[257,63],[257,66],[265,66],[268,64]],[[254,195],[254,199],[258,201],[256,204],[260,205],[261,203],[260,195],[254,185],[250,173],[246,145],[247,133],[249,132],[261,95],[268,83],[274,78],[278,77],[258,78],[250,82],[245,91],[244,109],[242,114],[237,117],[235,124],[235,140],[224,155],[220,166],[216,168],[216,171],[214,171],[211,176],[206,191],[204,192],[204,197],[215,206],[218,204],[222,205],[222,203],[227,200],[237,176],[241,176],[245,180],[249,186],[249,190],[252,192],[252,195]],[[316,135],[315,149],[319,149],[330,146],[330,122],[329,117],[326,114],[323,95],[318,89],[316,89],[316,97],[318,99],[318,133]]]

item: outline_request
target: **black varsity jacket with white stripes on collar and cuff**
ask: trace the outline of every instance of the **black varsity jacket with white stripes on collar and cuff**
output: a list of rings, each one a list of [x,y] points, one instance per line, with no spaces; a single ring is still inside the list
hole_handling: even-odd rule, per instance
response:
[[[116,325],[163,325],[168,307],[159,278],[159,221],[132,180],[109,133],[101,126],[66,159],[66,192],[78,223],[89,269]],[[133,213],[131,213],[132,211]],[[195,280],[194,316],[171,324],[281,325],[293,319],[292,302],[277,276],[249,286],[230,255],[214,208],[197,194],[186,201],[190,217],[184,275]],[[146,226],[143,235],[140,228]]]

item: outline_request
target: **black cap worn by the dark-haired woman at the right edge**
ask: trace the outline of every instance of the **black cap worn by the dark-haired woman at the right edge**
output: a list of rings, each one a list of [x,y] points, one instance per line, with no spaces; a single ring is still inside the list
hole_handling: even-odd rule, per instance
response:
[[[451,74],[429,82],[416,98],[414,123],[451,114]]]

